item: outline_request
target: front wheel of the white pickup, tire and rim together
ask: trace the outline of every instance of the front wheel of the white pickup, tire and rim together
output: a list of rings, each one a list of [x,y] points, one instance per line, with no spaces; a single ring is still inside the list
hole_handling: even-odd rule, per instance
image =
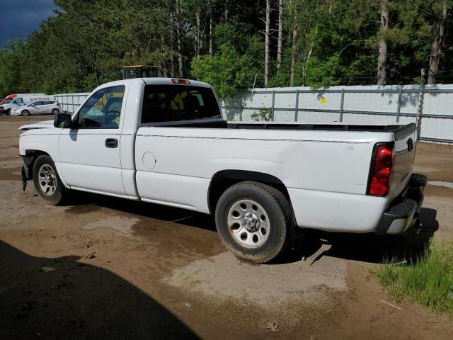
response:
[[[68,189],[59,179],[54,161],[47,155],[41,155],[33,164],[33,183],[39,196],[50,205],[63,203],[68,196]]]

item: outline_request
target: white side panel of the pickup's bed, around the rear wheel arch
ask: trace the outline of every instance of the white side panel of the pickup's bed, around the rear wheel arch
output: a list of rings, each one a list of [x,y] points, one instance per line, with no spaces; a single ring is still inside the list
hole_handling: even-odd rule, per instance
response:
[[[331,216],[323,220],[327,223],[324,229],[345,227],[343,222],[347,221],[338,221],[336,216],[342,209],[347,212],[363,206],[357,203],[367,200],[365,191],[374,144],[392,137],[382,132],[339,132],[343,137],[340,139],[333,136],[338,132],[299,131],[297,135],[285,134],[282,140],[278,131],[258,131],[252,136],[248,130],[214,133],[210,135],[212,130],[202,128],[140,128],[135,164],[142,200],[208,212],[207,191],[214,174],[226,169],[256,171],[280,179],[288,191],[294,192],[298,202],[302,192],[298,190],[304,190],[302,204],[316,198],[306,209],[304,206],[294,209],[304,211],[300,218],[307,219],[310,210],[316,212],[311,217],[315,220],[319,209],[326,208],[328,202],[334,211],[327,212]],[[348,135],[350,140],[346,140]],[[336,137],[338,140],[333,140]],[[316,192],[319,194],[314,195]],[[332,193],[338,194],[336,199],[326,200]],[[350,199],[339,205],[337,200],[347,197],[342,194]],[[371,209],[363,210],[362,215]],[[383,210],[379,205],[376,212]],[[365,217],[360,218],[360,222],[364,220]],[[367,229],[360,222],[351,229]],[[305,225],[303,220],[297,223]]]

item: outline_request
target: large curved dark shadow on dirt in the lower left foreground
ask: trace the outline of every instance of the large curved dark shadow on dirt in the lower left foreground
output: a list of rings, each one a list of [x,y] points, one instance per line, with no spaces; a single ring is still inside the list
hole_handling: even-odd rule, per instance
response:
[[[0,339],[197,339],[139,288],[78,260],[0,241]]]

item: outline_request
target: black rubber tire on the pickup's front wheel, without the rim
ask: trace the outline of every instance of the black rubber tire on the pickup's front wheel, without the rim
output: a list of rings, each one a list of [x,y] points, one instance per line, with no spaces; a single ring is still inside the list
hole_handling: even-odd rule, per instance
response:
[[[52,183],[55,183],[55,192],[52,194],[45,193],[40,185],[40,169],[43,166],[47,166],[47,169],[52,168],[53,173],[55,174],[55,179]],[[64,203],[69,196],[69,190],[64,187],[62,181],[59,179],[57,169],[55,169],[55,163],[50,156],[45,154],[41,155],[36,159],[35,164],[33,164],[33,183],[35,184],[35,190],[38,195],[45,201],[45,203],[50,205],[58,205]],[[43,183],[43,182],[42,182]]]

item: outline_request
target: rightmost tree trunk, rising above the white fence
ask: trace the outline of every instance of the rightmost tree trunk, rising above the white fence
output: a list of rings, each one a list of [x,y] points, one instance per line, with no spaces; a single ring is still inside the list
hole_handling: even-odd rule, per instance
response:
[[[437,21],[433,25],[434,38],[431,44],[430,69],[428,70],[428,84],[436,84],[437,72],[439,72],[440,57],[445,38],[445,21],[447,20],[447,1],[442,4],[442,12],[437,16]]]

